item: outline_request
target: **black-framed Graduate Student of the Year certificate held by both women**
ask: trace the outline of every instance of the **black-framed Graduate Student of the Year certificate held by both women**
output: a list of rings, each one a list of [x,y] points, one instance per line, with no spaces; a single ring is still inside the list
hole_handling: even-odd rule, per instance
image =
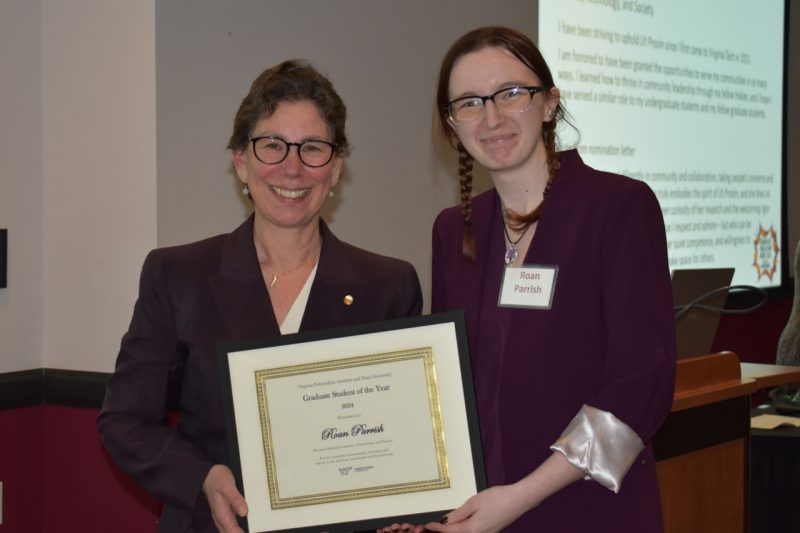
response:
[[[250,532],[438,520],[486,486],[461,313],[220,345]]]

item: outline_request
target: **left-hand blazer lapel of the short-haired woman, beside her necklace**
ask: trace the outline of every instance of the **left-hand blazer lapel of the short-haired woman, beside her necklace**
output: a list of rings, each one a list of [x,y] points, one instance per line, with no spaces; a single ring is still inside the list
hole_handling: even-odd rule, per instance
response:
[[[253,244],[253,216],[228,236],[220,257],[219,274],[210,276],[222,323],[231,339],[280,335],[267,286]]]

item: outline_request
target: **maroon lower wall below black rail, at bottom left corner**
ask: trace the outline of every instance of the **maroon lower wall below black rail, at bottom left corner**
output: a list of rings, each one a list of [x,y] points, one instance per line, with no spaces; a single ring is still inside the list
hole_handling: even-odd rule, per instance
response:
[[[51,405],[0,410],[0,531],[156,531],[159,504],[113,466],[97,436],[97,413]]]

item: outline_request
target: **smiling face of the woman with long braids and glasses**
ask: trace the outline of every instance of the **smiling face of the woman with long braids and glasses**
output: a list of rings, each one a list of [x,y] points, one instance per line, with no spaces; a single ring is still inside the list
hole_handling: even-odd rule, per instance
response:
[[[461,56],[450,75],[450,100],[485,96],[515,85],[537,86],[541,80],[519,59],[499,47],[481,48]],[[492,101],[483,118],[464,124],[450,123],[464,148],[490,173],[534,168],[546,162],[542,123],[552,120],[558,105],[553,88],[533,96],[531,106],[520,113],[501,113]]]

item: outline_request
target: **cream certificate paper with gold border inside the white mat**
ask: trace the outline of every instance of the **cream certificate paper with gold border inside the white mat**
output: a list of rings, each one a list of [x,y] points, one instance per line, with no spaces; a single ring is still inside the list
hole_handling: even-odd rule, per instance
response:
[[[430,348],[255,379],[273,509],[450,486]]]

